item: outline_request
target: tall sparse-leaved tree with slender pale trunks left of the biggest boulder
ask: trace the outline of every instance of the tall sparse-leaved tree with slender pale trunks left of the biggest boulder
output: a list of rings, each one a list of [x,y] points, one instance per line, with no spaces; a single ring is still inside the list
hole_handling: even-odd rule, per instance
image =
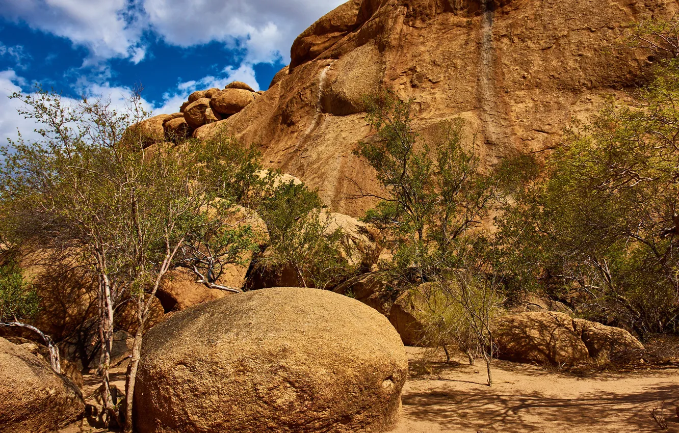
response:
[[[221,134],[204,143],[145,147],[139,96],[124,113],[107,101],[67,106],[39,91],[15,94],[43,140],[0,152],[3,227],[18,242],[81,253],[98,281],[100,373],[105,412],[132,430],[132,395],[151,299],[170,269],[191,262],[210,282],[220,266],[254,248],[231,209],[261,181],[257,153]],[[200,257],[200,261],[199,260]],[[206,259],[207,258],[207,259]],[[202,276],[202,275],[201,275]],[[113,404],[109,362],[115,309],[136,305],[139,322],[127,375],[125,411]]]

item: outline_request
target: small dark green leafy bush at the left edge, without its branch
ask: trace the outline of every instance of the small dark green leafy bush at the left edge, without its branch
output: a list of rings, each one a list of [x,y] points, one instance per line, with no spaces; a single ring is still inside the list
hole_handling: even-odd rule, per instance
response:
[[[0,267],[0,322],[20,322],[39,310],[39,297],[16,263]]]

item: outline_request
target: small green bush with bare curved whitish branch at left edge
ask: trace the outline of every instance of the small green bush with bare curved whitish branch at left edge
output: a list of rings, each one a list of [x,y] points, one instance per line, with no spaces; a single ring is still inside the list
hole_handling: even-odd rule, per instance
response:
[[[21,268],[14,261],[0,266],[0,327],[25,328],[39,335],[50,351],[52,369],[61,373],[59,348],[49,335],[26,323],[37,313],[39,301],[37,292],[24,280]]]

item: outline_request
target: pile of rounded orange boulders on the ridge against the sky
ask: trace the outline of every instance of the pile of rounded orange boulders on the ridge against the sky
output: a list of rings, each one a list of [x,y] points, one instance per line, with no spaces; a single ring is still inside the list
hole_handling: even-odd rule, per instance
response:
[[[144,147],[187,138],[201,126],[239,113],[261,94],[263,92],[255,92],[241,81],[234,81],[223,90],[198,90],[189,95],[189,100],[181,105],[179,113],[161,114],[139,123]]]

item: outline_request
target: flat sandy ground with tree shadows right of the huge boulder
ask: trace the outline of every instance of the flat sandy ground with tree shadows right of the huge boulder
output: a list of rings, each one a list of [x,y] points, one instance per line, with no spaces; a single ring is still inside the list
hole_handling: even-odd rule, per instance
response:
[[[659,432],[649,410],[665,402],[668,430],[679,432],[679,369],[655,368],[587,377],[495,360],[494,385],[485,364],[463,359],[422,371],[422,350],[407,347],[411,377],[403,418],[392,433]]]

